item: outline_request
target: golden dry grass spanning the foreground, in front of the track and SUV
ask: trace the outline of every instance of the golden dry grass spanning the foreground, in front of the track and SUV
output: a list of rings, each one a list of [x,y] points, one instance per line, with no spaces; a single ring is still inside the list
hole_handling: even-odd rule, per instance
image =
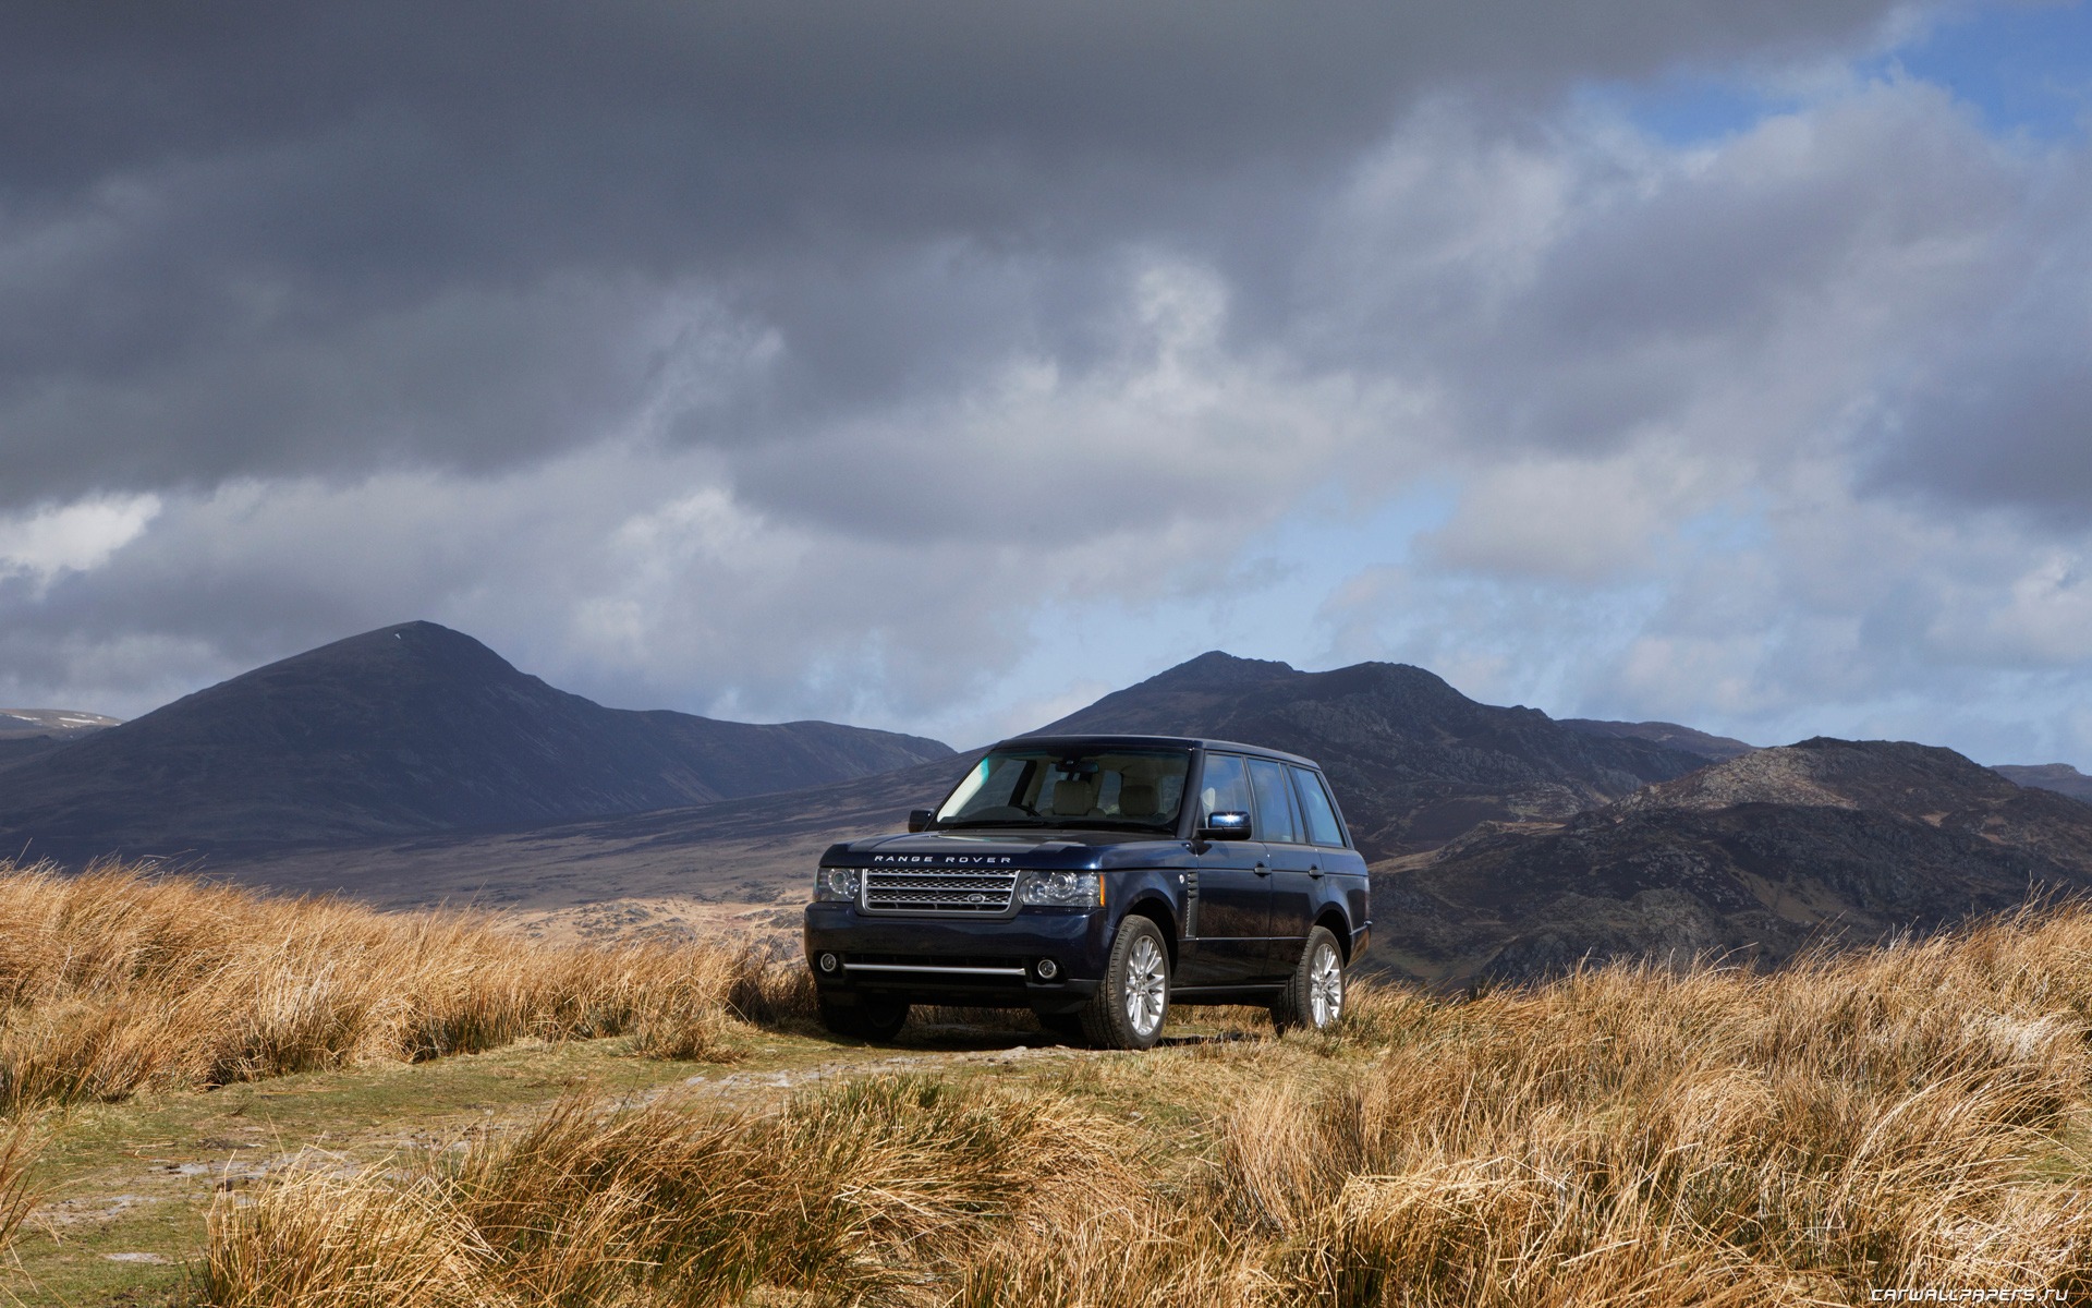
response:
[[[1764,1304],[2092,1291],[2092,915],[1611,967],[1333,1036],[569,1101],[213,1216],[213,1304]],[[1134,1132],[1149,1107],[1163,1128]]]

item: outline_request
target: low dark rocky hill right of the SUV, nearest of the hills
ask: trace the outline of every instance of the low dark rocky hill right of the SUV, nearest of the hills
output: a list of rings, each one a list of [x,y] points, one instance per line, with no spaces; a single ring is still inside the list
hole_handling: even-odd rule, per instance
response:
[[[1778,963],[2042,887],[2092,889],[2092,806],[1952,749],[1814,739],[1379,871],[1374,954],[1441,986],[1607,959]]]

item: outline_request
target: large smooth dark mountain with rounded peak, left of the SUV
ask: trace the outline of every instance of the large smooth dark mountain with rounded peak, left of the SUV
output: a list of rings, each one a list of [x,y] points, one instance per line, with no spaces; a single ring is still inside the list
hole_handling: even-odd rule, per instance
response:
[[[238,852],[688,806],[950,753],[833,722],[609,709],[410,622],[8,768],[0,837],[69,860]]]

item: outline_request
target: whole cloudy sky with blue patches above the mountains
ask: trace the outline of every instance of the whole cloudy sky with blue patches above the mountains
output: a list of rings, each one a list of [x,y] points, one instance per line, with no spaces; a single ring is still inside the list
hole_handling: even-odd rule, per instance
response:
[[[431,619],[2092,770],[2088,128],[2084,2],[15,4],[0,703]]]

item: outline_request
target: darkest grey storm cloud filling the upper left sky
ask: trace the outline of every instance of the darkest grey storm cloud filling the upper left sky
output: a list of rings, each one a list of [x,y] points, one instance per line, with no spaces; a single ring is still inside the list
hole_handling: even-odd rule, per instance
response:
[[[657,406],[686,331],[720,341],[684,439],[1079,364],[1123,243],[1282,295],[1272,245],[1418,94],[1533,105],[1885,8],[15,6],[0,502],[502,467]]]

